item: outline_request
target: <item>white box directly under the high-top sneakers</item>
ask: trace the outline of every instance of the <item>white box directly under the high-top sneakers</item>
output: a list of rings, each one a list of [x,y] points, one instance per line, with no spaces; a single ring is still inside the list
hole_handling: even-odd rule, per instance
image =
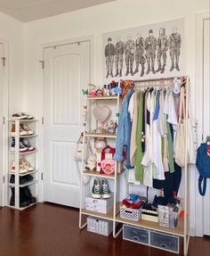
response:
[[[114,195],[108,199],[95,199],[93,197],[85,197],[85,210],[96,211],[107,214],[114,206]]]

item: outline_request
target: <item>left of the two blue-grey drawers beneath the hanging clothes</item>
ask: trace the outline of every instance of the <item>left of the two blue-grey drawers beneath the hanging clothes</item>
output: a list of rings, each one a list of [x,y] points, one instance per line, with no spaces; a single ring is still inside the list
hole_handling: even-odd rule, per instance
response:
[[[123,226],[123,239],[139,244],[149,245],[149,230],[129,225]]]

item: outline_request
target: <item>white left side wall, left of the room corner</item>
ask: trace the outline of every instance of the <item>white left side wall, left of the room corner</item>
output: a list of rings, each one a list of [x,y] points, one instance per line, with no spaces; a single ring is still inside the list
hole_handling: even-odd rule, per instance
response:
[[[23,107],[23,24],[0,12],[0,41],[9,45],[9,113]]]

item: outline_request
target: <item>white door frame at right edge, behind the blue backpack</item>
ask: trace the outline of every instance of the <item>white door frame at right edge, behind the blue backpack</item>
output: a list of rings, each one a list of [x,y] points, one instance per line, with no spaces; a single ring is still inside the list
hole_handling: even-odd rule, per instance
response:
[[[204,21],[210,17],[209,12],[201,12],[196,15],[196,73],[195,73],[195,99],[194,99],[194,111],[196,113],[196,119],[198,120],[198,145],[202,142],[202,101],[203,101],[203,35],[204,35]],[[194,212],[193,212],[193,225],[195,227],[194,234],[196,236],[204,235],[204,200],[203,197],[198,194],[198,170],[195,173],[195,189],[194,189]]]

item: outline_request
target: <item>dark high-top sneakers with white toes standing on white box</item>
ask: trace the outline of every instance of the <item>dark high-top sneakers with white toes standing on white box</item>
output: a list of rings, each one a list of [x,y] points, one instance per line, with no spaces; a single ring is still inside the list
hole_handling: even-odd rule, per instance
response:
[[[93,198],[109,198],[111,196],[109,191],[109,184],[107,179],[102,178],[101,181],[99,178],[94,178],[93,188],[92,188],[92,197]]]

